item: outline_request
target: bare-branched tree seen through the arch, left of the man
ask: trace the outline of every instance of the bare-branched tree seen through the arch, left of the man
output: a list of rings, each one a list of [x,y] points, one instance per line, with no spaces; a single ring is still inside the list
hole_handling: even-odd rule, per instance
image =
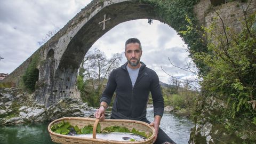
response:
[[[106,55],[99,49],[87,52],[79,68],[77,83],[78,90],[82,91],[82,99],[89,102],[89,105],[94,106],[99,103],[99,95],[102,92],[103,85],[106,83],[106,77],[111,70],[119,66],[120,61],[120,53],[115,53],[113,57],[107,59]],[[81,82],[82,80],[83,83]],[[89,91],[91,98],[85,98],[86,94],[83,93],[85,91]]]

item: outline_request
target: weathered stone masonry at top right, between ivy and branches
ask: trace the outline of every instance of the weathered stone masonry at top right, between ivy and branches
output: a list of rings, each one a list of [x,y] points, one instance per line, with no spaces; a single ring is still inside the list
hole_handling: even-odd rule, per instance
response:
[[[228,24],[226,26],[232,27],[235,31],[241,31],[242,22],[244,21],[244,12],[251,1],[247,3],[239,3],[238,1],[224,3],[218,6],[213,6],[210,0],[201,0],[195,5],[194,12],[199,21],[199,25],[209,27],[213,22],[214,18],[217,25],[221,26],[221,20],[217,13],[220,14],[221,19],[224,23]],[[252,0],[250,6],[247,9],[248,15],[255,14],[256,12],[256,1]]]

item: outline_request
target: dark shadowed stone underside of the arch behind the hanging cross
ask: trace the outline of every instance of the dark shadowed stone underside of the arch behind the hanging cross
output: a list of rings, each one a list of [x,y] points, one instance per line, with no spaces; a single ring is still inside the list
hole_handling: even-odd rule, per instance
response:
[[[110,18],[110,21],[106,21],[106,29],[102,30],[102,25],[99,25],[99,22],[103,20],[103,15],[105,14],[106,19]],[[102,35],[119,23],[148,18],[163,21],[157,17],[154,7],[149,4],[129,1],[106,6],[87,21],[71,39],[62,55],[57,71],[65,71],[65,69],[77,70],[90,47]]]

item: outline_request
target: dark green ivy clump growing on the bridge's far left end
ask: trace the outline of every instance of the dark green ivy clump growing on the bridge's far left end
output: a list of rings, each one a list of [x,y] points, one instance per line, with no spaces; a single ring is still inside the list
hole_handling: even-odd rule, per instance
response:
[[[31,62],[29,63],[28,68],[25,71],[25,74],[22,76],[22,82],[25,86],[25,89],[28,90],[28,92],[34,92],[35,91],[35,84],[36,81],[38,81],[39,76],[39,70],[37,69],[39,61],[39,56],[36,53],[33,58],[31,58]]]

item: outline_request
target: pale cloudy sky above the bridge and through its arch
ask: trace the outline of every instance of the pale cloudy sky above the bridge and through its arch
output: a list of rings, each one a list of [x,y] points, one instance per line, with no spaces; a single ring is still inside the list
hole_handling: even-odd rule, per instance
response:
[[[0,73],[10,74],[40,46],[46,34],[62,28],[75,17],[90,0],[5,0],[0,1]],[[170,83],[171,76],[181,79],[195,77],[193,74],[174,67],[187,67],[187,45],[177,32],[157,20],[149,25],[147,19],[120,23],[95,42],[95,48],[105,52],[107,58],[114,53],[124,53],[128,38],[140,39],[141,61],[158,74],[159,80]],[[126,62],[123,55],[121,64]],[[163,69],[169,74],[164,73]]]

